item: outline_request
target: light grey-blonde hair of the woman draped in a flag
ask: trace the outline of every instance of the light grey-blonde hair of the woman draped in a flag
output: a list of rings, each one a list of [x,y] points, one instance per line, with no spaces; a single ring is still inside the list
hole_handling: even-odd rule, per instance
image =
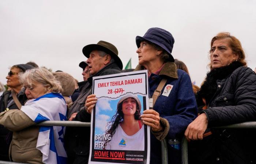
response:
[[[39,82],[46,87],[46,90],[61,93],[62,87],[53,74],[45,68],[35,68],[19,74],[19,81],[28,88],[33,87],[33,82]]]

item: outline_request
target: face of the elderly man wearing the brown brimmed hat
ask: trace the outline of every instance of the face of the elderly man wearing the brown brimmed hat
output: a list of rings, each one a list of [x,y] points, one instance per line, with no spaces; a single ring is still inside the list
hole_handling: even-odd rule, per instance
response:
[[[98,50],[91,51],[90,57],[87,59],[90,75],[96,74],[105,66],[106,56],[101,57]]]

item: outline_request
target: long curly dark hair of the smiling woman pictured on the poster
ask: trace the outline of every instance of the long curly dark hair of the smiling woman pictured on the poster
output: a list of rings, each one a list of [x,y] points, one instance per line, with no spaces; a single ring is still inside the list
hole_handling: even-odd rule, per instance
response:
[[[108,127],[108,130],[106,131],[106,135],[110,135],[110,138],[113,137],[114,133],[116,133],[116,128],[120,122],[124,120],[124,113],[122,112],[122,105],[123,101],[117,106],[116,114],[111,118],[111,120],[107,123],[106,127]],[[138,102],[136,101],[136,112],[134,113],[135,120],[140,120],[140,107]],[[110,128],[109,128],[110,127]],[[104,148],[106,147],[106,144],[111,141],[106,140],[104,144]]]

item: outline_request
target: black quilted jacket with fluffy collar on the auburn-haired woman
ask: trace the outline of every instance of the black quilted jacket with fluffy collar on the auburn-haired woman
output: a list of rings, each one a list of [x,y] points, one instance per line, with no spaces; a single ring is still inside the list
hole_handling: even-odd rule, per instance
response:
[[[208,128],[256,121],[256,74],[239,62],[208,73],[198,96],[208,104],[202,111]],[[211,131],[212,135],[189,144],[189,164],[256,163],[255,129]]]

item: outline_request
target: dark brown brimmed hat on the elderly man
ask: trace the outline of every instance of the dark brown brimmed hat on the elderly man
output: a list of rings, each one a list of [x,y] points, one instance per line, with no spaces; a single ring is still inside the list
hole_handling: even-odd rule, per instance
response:
[[[121,59],[118,57],[117,48],[113,44],[101,40],[97,44],[89,44],[87,46],[84,46],[83,47],[84,56],[86,56],[86,58],[89,58],[90,53],[93,50],[100,50],[100,51],[106,52],[107,54],[109,54],[110,56],[112,56],[114,58],[118,67],[120,69],[123,69],[123,63],[122,63]]]

